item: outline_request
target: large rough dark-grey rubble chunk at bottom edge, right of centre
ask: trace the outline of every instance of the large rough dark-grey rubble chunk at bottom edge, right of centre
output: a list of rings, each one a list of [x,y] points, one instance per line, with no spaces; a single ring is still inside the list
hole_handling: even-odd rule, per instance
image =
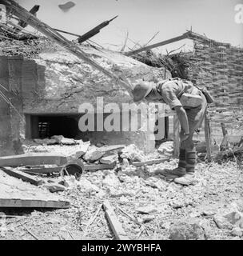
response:
[[[185,219],[174,222],[169,229],[171,240],[205,240],[205,231],[197,219]]]

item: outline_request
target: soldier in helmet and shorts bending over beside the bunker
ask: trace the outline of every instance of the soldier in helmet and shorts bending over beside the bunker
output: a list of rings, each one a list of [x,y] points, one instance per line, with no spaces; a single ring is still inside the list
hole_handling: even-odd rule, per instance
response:
[[[134,102],[145,99],[147,102],[166,103],[176,111],[181,124],[179,163],[177,168],[162,170],[161,174],[177,176],[174,182],[185,186],[194,184],[196,149],[193,143],[193,134],[201,126],[205,117],[207,107],[205,95],[193,86],[192,82],[182,81],[180,78],[169,78],[156,84],[140,82],[132,92]],[[184,98],[183,101],[182,98]]]

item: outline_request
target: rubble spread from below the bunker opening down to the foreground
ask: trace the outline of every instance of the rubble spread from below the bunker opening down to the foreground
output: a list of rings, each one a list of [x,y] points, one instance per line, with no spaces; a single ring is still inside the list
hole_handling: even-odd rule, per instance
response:
[[[75,143],[72,146],[46,146],[32,142],[26,149],[29,148],[29,152],[43,148],[49,151],[55,147],[70,155],[74,148],[78,151],[78,147],[86,145],[86,152],[82,152],[80,159],[86,155],[92,162],[90,165],[113,161],[117,164],[108,170],[85,170],[79,178],[42,175],[45,181],[42,189],[66,198],[70,207],[54,211],[18,210],[18,222],[26,222],[25,226],[38,238],[113,239],[105,210],[101,208],[107,200],[130,239],[242,238],[243,180],[242,170],[237,169],[236,163],[228,162],[225,166],[200,163],[196,170],[196,185],[181,186],[157,172],[175,168],[176,159],[133,166],[134,160],[148,158],[133,145],[110,150],[104,155],[101,148],[108,146],[90,146],[90,142],[81,140]],[[13,213],[5,210],[5,214]],[[12,218],[7,220],[7,226],[10,231],[6,232],[5,239],[35,239],[22,226],[14,228],[16,223]]]

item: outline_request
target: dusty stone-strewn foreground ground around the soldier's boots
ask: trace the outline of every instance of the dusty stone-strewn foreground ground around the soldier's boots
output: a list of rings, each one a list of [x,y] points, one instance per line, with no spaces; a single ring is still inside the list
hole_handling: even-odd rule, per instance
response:
[[[104,211],[105,199],[110,200],[131,239],[168,239],[169,227],[181,218],[196,218],[204,223],[206,239],[243,239],[230,230],[219,229],[213,221],[217,210],[242,200],[243,171],[234,162],[197,165],[197,184],[180,186],[166,181],[154,170],[173,168],[176,160],[147,168],[99,170],[82,174],[81,181],[68,178],[70,189],[58,192],[71,202],[66,210],[1,210],[19,215],[6,219],[6,230],[0,239],[114,239]],[[45,179],[59,180],[60,177]],[[152,220],[137,224],[148,214],[139,214],[138,206],[153,206]],[[94,222],[90,223],[99,211]],[[123,213],[122,213],[122,211]]]

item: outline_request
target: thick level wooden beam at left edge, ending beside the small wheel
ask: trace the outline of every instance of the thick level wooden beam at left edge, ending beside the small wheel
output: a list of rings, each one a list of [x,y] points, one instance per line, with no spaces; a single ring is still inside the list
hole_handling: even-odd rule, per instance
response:
[[[0,158],[0,167],[2,166],[41,166],[66,164],[67,158],[61,154],[50,153],[32,153],[18,154]]]

